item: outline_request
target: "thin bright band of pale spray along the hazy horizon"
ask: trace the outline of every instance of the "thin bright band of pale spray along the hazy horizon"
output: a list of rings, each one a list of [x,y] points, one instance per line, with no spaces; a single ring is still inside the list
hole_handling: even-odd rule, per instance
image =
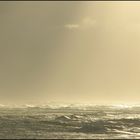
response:
[[[115,104],[115,105],[98,105],[98,104],[66,104],[66,103],[55,103],[49,102],[45,104],[12,104],[12,105],[5,105],[0,104],[0,108],[40,108],[40,109],[79,109],[79,110],[92,110],[92,109],[133,109],[133,108],[140,108],[140,104]]]

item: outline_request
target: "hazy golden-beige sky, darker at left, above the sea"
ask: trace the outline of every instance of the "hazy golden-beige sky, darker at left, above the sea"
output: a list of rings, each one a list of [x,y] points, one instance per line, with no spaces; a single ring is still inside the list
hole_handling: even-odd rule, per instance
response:
[[[0,2],[0,103],[139,103],[140,2]]]

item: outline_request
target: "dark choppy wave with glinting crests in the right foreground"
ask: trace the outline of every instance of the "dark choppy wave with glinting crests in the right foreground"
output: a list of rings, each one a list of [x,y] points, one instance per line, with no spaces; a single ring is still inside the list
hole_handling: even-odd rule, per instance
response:
[[[92,118],[91,118],[92,117]],[[99,119],[94,116],[85,115],[61,115],[56,116],[46,123],[58,126],[67,126],[67,128],[73,128],[65,131],[82,132],[82,133],[120,133],[119,131],[126,133],[140,132],[140,118],[120,118],[120,119]],[[133,128],[133,129],[130,129]]]

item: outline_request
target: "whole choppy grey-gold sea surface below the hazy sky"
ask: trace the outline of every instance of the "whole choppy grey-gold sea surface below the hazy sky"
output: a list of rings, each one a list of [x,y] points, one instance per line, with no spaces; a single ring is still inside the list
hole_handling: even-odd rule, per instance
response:
[[[140,106],[0,107],[0,139],[138,139]]]

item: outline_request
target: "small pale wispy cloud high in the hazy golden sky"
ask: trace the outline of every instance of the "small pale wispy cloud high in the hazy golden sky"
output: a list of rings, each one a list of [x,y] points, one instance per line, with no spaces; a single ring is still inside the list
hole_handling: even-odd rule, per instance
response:
[[[66,24],[65,27],[68,29],[87,29],[87,28],[92,28],[95,27],[96,25],[96,20],[91,18],[91,17],[86,17],[79,21],[79,23],[76,24]]]

